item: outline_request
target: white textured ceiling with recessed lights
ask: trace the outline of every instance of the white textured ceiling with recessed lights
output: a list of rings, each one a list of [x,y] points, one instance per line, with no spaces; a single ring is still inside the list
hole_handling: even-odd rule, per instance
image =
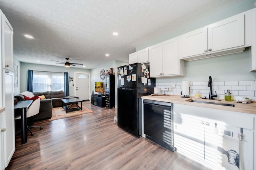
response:
[[[136,46],[242,1],[0,0],[0,9],[14,29],[14,56],[21,62],[60,66],[50,60],[70,58],[91,69],[128,62]]]

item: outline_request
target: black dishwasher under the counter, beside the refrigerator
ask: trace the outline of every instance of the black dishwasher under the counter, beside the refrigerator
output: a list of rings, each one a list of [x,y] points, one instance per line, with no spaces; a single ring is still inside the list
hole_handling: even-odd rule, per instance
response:
[[[143,103],[146,138],[174,152],[173,104],[146,99]]]

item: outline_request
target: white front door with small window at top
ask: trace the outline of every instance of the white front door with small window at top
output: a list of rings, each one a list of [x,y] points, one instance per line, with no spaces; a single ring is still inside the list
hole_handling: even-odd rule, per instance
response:
[[[89,74],[76,72],[75,78],[75,95],[80,100],[89,100]]]

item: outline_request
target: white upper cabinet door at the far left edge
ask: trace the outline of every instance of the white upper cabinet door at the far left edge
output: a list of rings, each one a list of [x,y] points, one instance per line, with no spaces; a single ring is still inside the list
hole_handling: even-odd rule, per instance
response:
[[[2,20],[2,68],[13,70],[13,28],[4,14]]]

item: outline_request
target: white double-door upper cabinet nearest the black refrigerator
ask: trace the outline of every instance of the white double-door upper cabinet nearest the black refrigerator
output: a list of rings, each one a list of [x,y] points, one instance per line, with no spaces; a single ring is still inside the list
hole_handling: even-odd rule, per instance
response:
[[[178,59],[178,37],[149,47],[150,77],[184,76]]]

